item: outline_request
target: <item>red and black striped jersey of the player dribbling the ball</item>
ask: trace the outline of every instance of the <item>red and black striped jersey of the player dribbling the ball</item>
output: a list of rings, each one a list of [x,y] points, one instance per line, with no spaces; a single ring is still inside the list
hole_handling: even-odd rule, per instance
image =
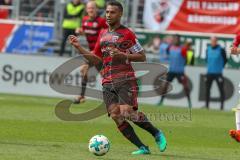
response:
[[[131,63],[112,60],[109,53],[112,48],[117,48],[124,54],[139,54],[139,52],[143,51],[135,34],[127,27],[120,26],[113,32],[103,29],[99,34],[93,51],[94,54],[103,60],[102,83],[135,80],[136,77]]]

